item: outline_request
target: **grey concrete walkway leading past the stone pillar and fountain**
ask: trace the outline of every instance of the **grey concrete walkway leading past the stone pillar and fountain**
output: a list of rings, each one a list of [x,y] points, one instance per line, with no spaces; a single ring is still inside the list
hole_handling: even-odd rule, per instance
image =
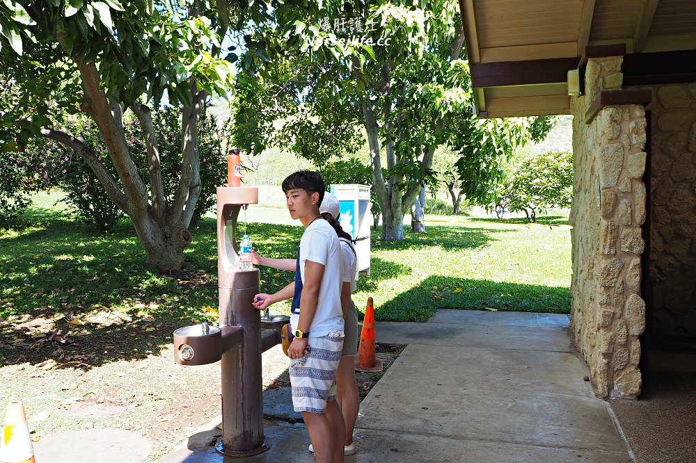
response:
[[[428,323],[377,323],[408,344],[361,404],[347,462],[630,462],[559,314],[441,310]],[[214,428],[162,463],[222,461]],[[313,462],[302,424],[266,421],[271,449],[248,462]],[[239,461],[239,460],[235,460]]]

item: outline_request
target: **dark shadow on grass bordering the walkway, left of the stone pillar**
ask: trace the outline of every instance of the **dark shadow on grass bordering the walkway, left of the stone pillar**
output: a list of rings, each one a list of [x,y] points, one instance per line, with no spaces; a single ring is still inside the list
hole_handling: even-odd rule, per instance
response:
[[[437,309],[569,314],[570,308],[569,288],[433,275],[374,307],[374,317],[381,321],[425,322]]]

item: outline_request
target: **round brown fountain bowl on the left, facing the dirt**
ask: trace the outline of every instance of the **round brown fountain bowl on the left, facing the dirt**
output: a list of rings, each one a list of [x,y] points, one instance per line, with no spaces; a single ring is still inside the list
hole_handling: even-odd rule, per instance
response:
[[[206,365],[222,358],[222,335],[219,327],[207,323],[174,331],[174,360],[180,365]]]

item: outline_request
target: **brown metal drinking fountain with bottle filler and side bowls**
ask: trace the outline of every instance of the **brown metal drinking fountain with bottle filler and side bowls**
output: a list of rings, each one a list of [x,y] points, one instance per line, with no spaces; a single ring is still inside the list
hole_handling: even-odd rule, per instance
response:
[[[258,188],[217,188],[219,327],[203,323],[174,332],[177,364],[221,362],[223,429],[216,450],[226,457],[257,455],[271,446],[263,430],[261,353],[280,343],[280,329],[290,320],[266,314],[262,321],[253,307],[259,270],[241,270],[237,256],[237,218],[248,204],[258,204]]]

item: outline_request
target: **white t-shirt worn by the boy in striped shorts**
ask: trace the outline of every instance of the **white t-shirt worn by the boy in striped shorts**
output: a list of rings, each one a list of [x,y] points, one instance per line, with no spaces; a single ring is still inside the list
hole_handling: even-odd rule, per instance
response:
[[[305,229],[300,240],[300,277],[303,286],[305,262],[308,260],[324,266],[317,311],[309,328],[309,334],[312,337],[321,337],[333,331],[343,331],[341,246],[335,230],[324,219],[312,222]],[[292,314],[290,318],[293,330],[297,329],[299,317],[299,314]]]

